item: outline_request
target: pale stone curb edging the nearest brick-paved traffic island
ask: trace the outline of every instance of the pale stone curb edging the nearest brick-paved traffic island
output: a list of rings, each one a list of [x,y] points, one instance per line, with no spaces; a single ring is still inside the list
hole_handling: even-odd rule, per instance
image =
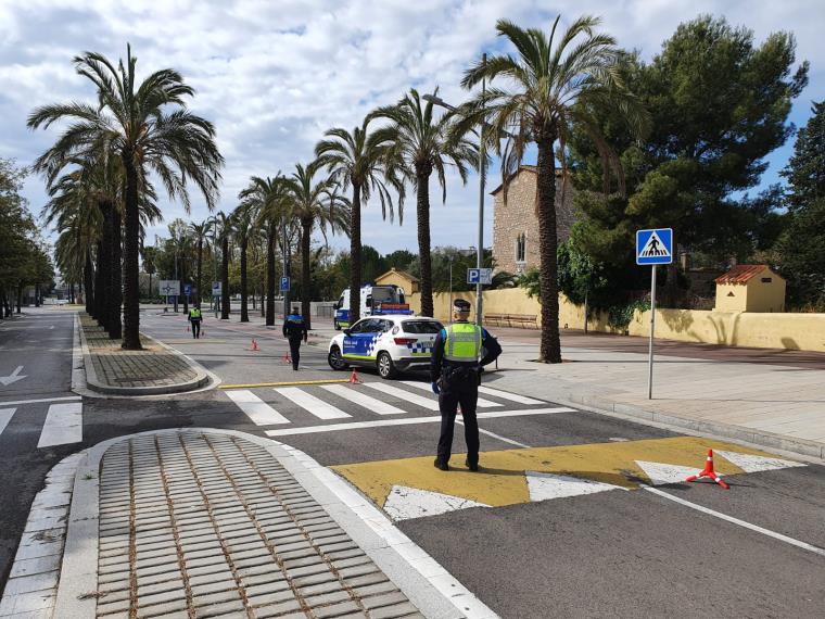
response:
[[[497,619],[498,616],[421,549],[346,481],[305,453],[283,443],[234,430],[172,428],[127,434],[89,447],[75,473],[55,617],[97,615],[100,521],[100,466],[115,443],[134,437],[173,432],[234,435],[266,449],[323,507],[352,540],[426,616],[433,619]]]

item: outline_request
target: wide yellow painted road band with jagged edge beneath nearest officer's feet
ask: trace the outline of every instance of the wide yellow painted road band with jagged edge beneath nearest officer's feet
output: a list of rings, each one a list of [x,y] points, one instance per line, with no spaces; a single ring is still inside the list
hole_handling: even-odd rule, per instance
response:
[[[635,460],[694,467],[698,472],[705,468],[705,457],[709,447],[752,455],[771,455],[722,441],[675,437],[622,443],[483,452],[480,472],[470,472],[464,468],[465,454],[453,455],[449,472],[433,467],[433,456],[339,465],[331,468],[356,485],[379,507],[383,507],[393,485],[440,492],[497,507],[530,502],[525,471],[562,473],[636,490],[640,483],[648,483],[649,480]],[[744,472],[721,456],[714,458],[714,464],[716,471],[723,475]]]

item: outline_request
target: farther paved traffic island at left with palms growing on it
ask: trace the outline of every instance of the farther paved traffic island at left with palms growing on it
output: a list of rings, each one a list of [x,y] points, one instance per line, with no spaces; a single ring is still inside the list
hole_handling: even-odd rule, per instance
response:
[[[143,350],[126,351],[86,313],[78,314],[86,386],[110,395],[180,393],[210,381],[206,371],[186,355],[143,333]]]

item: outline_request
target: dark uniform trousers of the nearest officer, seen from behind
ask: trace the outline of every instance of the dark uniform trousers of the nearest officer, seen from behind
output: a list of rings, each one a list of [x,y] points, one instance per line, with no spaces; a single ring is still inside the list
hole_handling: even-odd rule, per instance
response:
[[[467,441],[467,459],[470,464],[479,463],[479,421],[475,406],[479,400],[478,371],[473,367],[450,366],[445,362],[442,368],[442,387],[439,394],[441,410],[441,435],[439,438],[439,459],[449,460],[453,447],[456,406],[461,407]]]

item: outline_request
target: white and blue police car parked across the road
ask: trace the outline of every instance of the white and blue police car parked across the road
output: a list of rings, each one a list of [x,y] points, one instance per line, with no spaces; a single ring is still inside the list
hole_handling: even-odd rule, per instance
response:
[[[435,336],[443,325],[422,316],[369,316],[344,329],[329,344],[332,369],[376,367],[381,378],[430,365]]]

